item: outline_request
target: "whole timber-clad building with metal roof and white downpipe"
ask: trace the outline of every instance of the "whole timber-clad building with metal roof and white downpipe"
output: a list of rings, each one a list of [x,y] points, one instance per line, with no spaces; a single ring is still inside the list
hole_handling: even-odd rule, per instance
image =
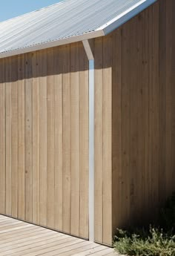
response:
[[[0,214],[111,245],[175,190],[175,1],[0,23]]]

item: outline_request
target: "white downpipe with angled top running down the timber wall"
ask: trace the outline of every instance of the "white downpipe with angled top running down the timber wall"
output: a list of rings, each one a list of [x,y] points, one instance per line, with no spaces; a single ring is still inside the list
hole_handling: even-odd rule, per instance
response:
[[[94,242],[94,57],[88,40],[82,41],[89,60],[89,240]]]

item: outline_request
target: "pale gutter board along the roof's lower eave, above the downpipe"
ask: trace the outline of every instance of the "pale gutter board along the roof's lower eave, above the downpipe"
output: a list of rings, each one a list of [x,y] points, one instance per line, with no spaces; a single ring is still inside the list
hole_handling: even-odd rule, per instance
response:
[[[67,45],[67,44],[70,44],[73,42],[79,42],[79,41],[84,41],[84,40],[88,40],[88,39],[93,39],[93,38],[96,38],[99,36],[105,36],[103,30],[85,33],[84,35],[80,35],[80,36],[71,36],[67,39],[60,39],[60,40],[56,40],[53,42],[42,43],[39,45],[32,45],[30,47],[24,47],[24,48],[20,48],[20,49],[16,49],[16,50],[9,50],[7,52],[0,53],[0,59],[10,57],[10,56],[16,56],[16,55],[23,54],[23,53],[31,53],[36,50],[44,50],[44,49],[56,47],[59,45]]]

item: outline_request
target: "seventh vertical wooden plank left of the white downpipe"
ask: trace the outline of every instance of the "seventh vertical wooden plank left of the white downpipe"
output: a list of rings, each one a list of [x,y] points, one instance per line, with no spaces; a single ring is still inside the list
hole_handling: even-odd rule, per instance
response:
[[[33,53],[33,223],[39,223],[39,53]]]

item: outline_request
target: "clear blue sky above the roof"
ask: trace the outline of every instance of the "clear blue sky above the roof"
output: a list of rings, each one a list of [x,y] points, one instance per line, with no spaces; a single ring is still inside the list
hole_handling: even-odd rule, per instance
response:
[[[0,22],[32,10],[56,4],[61,0],[4,0],[1,1]]]

